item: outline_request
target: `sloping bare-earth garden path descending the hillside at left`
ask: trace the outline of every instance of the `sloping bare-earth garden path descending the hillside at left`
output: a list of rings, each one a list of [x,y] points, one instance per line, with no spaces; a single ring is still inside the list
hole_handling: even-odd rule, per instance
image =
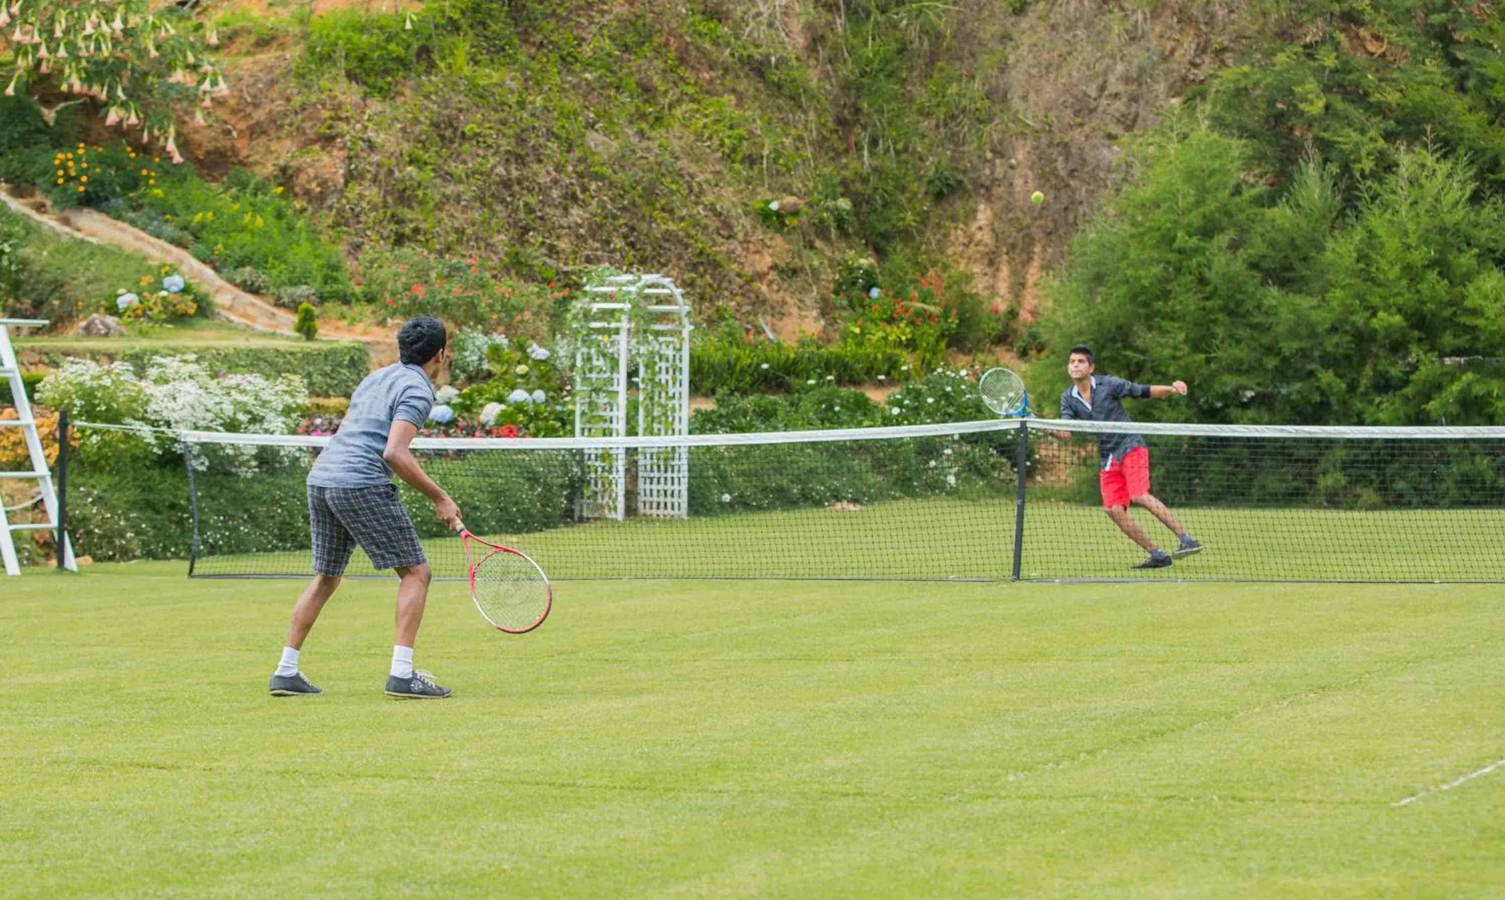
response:
[[[278,309],[254,293],[241,290],[230,284],[220,272],[214,271],[182,247],[176,247],[154,238],[146,232],[123,221],[87,208],[65,209],[53,212],[39,199],[21,200],[11,194],[6,187],[0,187],[0,202],[18,214],[38,221],[65,238],[108,244],[144,256],[154,262],[170,262],[178,266],[188,280],[209,292],[214,298],[215,315],[236,325],[244,325],[256,331],[293,336],[293,316],[284,309]],[[378,366],[397,358],[397,342],[391,331],[360,331],[340,322],[321,321],[319,336],[336,340],[360,340],[370,346],[372,361]]]

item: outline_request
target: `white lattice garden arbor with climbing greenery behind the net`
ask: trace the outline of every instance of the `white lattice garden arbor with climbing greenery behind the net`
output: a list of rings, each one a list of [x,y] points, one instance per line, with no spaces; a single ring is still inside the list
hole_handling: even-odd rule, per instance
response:
[[[628,397],[637,388],[638,435],[689,433],[689,304],[664,275],[610,275],[585,286],[575,352],[575,436],[628,436]],[[632,372],[637,372],[632,376]],[[628,510],[626,448],[585,455],[582,519],[622,519]],[[637,452],[635,512],[685,518],[685,447]]]

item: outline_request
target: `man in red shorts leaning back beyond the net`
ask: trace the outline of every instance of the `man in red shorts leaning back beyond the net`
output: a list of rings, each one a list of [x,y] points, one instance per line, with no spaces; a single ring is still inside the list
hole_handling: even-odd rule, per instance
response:
[[[1067,357],[1066,370],[1072,376],[1072,387],[1061,393],[1061,418],[1081,418],[1088,421],[1132,421],[1124,411],[1124,397],[1169,397],[1171,394],[1186,394],[1186,382],[1174,381],[1169,385],[1135,384],[1112,375],[1094,375],[1097,358],[1093,351],[1078,345]],[[1070,439],[1070,432],[1058,432]],[[1136,569],[1163,569],[1172,558],[1187,557],[1201,552],[1202,545],[1181,528],[1175,515],[1165,509],[1165,504],[1150,494],[1150,448],[1144,438],[1129,433],[1097,435],[1097,456],[1100,462],[1099,483],[1103,489],[1103,510],[1108,518],[1150,554],[1150,558],[1135,566]],[[1150,536],[1144,533],[1139,522],[1129,515],[1129,504],[1136,503],[1160,519],[1177,537],[1177,548],[1165,552]]]

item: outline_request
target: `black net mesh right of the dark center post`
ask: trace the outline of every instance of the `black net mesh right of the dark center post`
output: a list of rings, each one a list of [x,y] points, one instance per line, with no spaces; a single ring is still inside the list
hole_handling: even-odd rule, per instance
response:
[[[1031,424],[1043,429],[1046,423]],[[1148,570],[1133,567],[1145,552],[1105,515],[1096,435],[1085,430],[1061,441],[1032,432],[1020,575],[1505,578],[1505,560],[1496,549],[1505,527],[1505,436],[1463,436],[1487,435],[1482,429],[1230,432],[1144,435],[1150,497],[1204,546],[1169,567]],[[1380,433],[1389,436],[1374,436]],[[1174,551],[1178,540],[1151,515],[1151,506],[1133,503],[1129,515],[1157,546]]]

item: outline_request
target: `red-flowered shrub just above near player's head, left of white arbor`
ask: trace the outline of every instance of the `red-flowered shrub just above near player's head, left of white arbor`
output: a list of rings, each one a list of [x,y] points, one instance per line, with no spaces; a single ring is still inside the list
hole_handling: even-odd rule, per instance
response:
[[[421,250],[370,250],[361,256],[366,299],[379,316],[427,313],[451,325],[509,334],[549,334],[554,307],[567,296],[554,284],[518,284],[479,257],[433,256]]]

